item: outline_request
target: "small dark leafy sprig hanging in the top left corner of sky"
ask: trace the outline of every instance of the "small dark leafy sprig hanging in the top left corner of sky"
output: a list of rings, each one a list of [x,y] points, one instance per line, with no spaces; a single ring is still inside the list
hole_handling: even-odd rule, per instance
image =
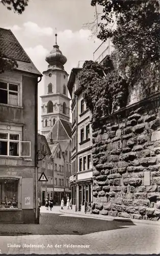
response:
[[[8,10],[21,14],[25,7],[28,6],[29,0],[2,0],[0,3],[5,5]]]

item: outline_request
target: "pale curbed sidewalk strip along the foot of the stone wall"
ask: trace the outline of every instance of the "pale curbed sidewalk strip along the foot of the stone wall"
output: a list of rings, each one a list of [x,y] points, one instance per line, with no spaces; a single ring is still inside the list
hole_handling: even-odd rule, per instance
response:
[[[106,221],[113,221],[113,220],[122,220],[122,221],[126,221],[126,222],[132,222],[135,225],[137,224],[142,224],[142,225],[152,225],[152,226],[160,226],[160,220],[159,221],[150,221],[150,220],[136,220],[136,219],[129,219],[129,218],[121,218],[121,217],[113,217],[113,216],[100,216],[100,215],[86,215],[86,214],[78,214],[75,212],[67,212],[67,211],[62,211],[59,210],[60,212],[64,213],[64,214],[70,214],[70,215],[76,215],[78,216],[85,216],[88,218],[92,218],[92,219],[99,219],[99,220],[106,220]]]

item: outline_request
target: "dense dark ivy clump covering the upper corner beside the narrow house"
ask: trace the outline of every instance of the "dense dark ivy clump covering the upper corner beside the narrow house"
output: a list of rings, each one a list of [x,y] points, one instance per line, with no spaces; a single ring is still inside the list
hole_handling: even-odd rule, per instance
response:
[[[126,103],[127,83],[114,69],[109,56],[103,65],[92,60],[85,61],[79,74],[79,84],[94,120],[113,113]]]

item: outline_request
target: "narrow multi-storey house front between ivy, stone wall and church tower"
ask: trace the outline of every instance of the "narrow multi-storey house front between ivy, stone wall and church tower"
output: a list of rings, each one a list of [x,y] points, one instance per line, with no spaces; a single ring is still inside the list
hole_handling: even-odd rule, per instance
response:
[[[72,176],[70,177],[72,204],[75,210],[85,210],[85,202],[92,202],[92,129],[91,112],[86,107],[79,87],[81,68],[73,68],[68,80],[72,98]]]

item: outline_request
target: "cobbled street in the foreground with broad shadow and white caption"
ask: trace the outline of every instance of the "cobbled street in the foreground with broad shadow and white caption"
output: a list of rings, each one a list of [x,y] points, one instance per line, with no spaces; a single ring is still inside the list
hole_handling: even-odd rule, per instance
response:
[[[96,216],[97,217],[97,216]],[[103,217],[102,217],[103,218]],[[0,249],[7,254],[160,253],[160,226],[41,207],[40,224],[0,224]]]

